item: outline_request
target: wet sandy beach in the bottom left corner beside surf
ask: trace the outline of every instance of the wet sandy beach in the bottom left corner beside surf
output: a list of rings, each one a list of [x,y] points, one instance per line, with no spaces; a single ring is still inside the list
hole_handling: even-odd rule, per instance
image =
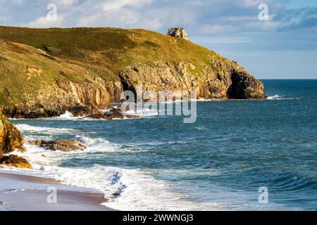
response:
[[[56,204],[47,202],[56,188]],[[54,179],[0,172],[0,211],[111,211],[102,193],[65,186]]]

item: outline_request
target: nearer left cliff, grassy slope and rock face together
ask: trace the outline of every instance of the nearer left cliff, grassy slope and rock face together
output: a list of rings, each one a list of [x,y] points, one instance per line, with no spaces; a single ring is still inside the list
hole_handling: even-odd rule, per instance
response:
[[[92,113],[118,102],[121,83],[32,46],[0,39],[0,105],[15,118]]]

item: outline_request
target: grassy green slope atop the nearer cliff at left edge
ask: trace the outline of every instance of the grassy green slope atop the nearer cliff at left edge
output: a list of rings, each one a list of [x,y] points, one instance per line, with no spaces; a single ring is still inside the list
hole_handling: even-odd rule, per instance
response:
[[[85,68],[50,58],[30,46],[0,39],[0,52],[0,105],[24,103],[46,86],[84,79]]]

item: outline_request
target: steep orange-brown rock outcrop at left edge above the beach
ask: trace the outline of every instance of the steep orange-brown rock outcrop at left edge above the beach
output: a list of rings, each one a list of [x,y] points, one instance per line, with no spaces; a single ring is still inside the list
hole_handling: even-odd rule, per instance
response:
[[[0,112],[0,154],[11,153],[14,150],[25,151],[22,133],[8,122]]]

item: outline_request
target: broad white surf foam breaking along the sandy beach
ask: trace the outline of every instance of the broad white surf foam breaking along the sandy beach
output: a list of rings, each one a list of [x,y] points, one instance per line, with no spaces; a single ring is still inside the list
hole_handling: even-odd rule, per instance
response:
[[[27,128],[30,130],[30,127]],[[27,136],[27,139],[30,137]],[[27,153],[15,152],[14,154],[23,156],[31,163],[34,168],[33,176],[48,177],[61,181],[62,184],[102,191],[108,200],[104,205],[116,210],[198,210],[199,208],[216,207],[212,203],[204,206],[193,205],[188,201],[192,196],[176,193],[168,181],[154,179],[153,176],[140,169],[101,165],[61,167],[61,163],[69,162],[74,157],[84,160],[92,157],[90,154],[92,152],[125,150],[104,139],[93,139],[80,135],[77,136],[77,139],[87,145],[87,150],[63,153],[26,145]]]

